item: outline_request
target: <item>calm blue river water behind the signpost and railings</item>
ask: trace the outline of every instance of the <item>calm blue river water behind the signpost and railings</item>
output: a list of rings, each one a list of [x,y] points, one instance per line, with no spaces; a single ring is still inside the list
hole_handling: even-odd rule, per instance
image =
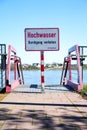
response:
[[[45,85],[58,85],[61,79],[61,70],[46,70],[44,72]],[[24,70],[24,81],[25,84],[41,84],[41,72],[40,70]],[[11,71],[11,81],[13,80],[13,71]],[[73,81],[77,81],[77,72],[72,71]],[[87,70],[83,71],[83,83],[87,84]]]

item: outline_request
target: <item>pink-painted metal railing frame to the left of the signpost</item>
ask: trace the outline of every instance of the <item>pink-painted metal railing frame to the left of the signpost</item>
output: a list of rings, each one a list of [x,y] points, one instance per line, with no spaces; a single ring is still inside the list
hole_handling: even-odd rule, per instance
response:
[[[12,55],[13,54],[13,55]],[[21,73],[21,59],[17,57],[15,48],[8,46],[7,55],[7,71],[6,71],[6,92],[10,92],[19,84],[24,83],[23,74]],[[11,61],[14,63],[14,80],[10,83]]]

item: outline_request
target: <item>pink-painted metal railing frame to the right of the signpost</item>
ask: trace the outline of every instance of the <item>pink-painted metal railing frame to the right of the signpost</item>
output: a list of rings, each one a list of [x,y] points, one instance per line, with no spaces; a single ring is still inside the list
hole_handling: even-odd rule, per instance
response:
[[[75,52],[75,58],[74,60],[77,61],[77,82],[74,82],[72,80],[72,56],[73,52]],[[69,72],[69,79],[67,78],[67,72]],[[75,90],[80,91],[83,88],[83,83],[82,83],[82,71],[81,71],[81,65],[80,65],[80,52],[79,52],[79,46],[75,45],[71,47],[68,50],[68,56],[64,58],[64,66],[63,66],[63,71],[62,71],[62,76],[61,76],[61,82],[60,84],[63,83],[64,85],[71,86]]]

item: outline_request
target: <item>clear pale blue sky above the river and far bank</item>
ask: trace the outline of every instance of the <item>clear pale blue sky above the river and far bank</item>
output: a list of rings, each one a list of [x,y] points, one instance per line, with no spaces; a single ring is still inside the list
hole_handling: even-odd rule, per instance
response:
[[[40,62],[40,52],[26,52],[25,28],[60,29],[60,51],[45,52],[45,63],[62,63],[68,49],[87,45],[87,0],[0,0],[0,44],[11,44],[22,63]]]

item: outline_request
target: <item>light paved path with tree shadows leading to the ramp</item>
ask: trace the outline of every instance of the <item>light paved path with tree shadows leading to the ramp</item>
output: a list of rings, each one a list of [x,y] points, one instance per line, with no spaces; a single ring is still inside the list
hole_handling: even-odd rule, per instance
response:
[[[67,89],[41,93],[17,88],[0,102],[0,130],[8,129],[87,130],[87,100]]]

